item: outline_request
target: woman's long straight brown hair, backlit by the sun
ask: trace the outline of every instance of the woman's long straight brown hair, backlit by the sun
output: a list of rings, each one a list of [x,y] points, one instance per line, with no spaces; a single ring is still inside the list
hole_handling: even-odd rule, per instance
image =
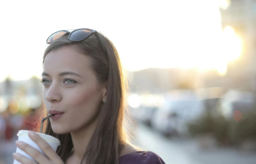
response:
[[[63,36],[47,47],[43,60],[50,51],[63,46],[73,46],[76,51],[90,57],[91,68],[98,82],[108,81],[107,102],[81,164],[84,161],[88,164],[118,164],[120,151],[130,144],[125,135],[123,122],[125,119],[127,82],[115,46],[106,36],[101,33],[99,35],[106,47],[108,56],[102,51],[100,43],[94,35],[82,42],[72,42],[68,36]],[[47,121],[45,133],[60,140],[61,145],[56,152],[65,163],[73,149],[70,133],[55,134],[50,121]]]

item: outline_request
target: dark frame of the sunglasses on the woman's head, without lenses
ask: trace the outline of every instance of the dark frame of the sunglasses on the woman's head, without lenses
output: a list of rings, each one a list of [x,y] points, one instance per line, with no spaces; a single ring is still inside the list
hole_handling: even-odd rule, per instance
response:
[[[82,39],[82,40],[73,41],[72,39],[70,39],[70,36],[72,35],[73,32],[78,31],[78,30],[89,30],[91,33],[90,33],[87,37],[85,37],[84,39]],[[60,30],[60,31],[65,31],[66,33],[65,33],[64,35],[67,35],[68,33],[70,33],[70,34],[68,35],[68,39],[71,40],[72,42],[81,42],[81,41],[84,41],[84,40],[88,39],[91,35],[95,35],[96,38],[98,39],[100,45],[101,45],[101,48],[102,48],[103,52],[107,55],[106,47],[104,46],[103,41],[100,39],[99,34],[98,34],[98,32],[97,32],[96,30],[92,30],[92,29],[89,29],[89,28],[79,28],[79,29],[73,30],[72,32],[69,32],[68,30]],[[60,32],[60,31],[57,31],[57,32],[55,32],[55,33],[58,33],[58,32]],[[52,35],[54,35],[55,33],[53,33]],[[48,40],[52,35],[50,35],[50,36],[47,38],[47,40]],[[62,35],[62,36],[64,36],[64,35]],[[60,37],[62,37],[62,36],[60,36]],[[59,38],[60,38],[60,37],[59,37]],[[46,43],[47,43],[47,44],[52,43],[52,42],[49,42],[49,43],[48,43],[47,40],[46,40]]]

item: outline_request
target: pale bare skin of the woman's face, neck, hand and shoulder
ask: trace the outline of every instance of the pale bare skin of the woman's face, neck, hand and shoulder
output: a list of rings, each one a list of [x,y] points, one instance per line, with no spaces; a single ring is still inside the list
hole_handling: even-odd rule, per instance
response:
[[[59,120],[50,121],[55,133],[71,134],[74,153],[66,163],[80,163],[96,129],[104,99],[107,98],[107,82],[98,83],[95,73],[90,68],[90,58],[75,51],[72,46],[64,46],[47,54],[42,81],[47,112],[65,112]],[[38,144],[45,155],[21,141],[16,141],[17,147],[39,164],[64,164],[58,154],[38,134],[30,131],[29,137]],[[132,147],[124,148],[120,156],[133,151]],[[14,153],[13,157],[22,164],[36,164],[21,154]]]

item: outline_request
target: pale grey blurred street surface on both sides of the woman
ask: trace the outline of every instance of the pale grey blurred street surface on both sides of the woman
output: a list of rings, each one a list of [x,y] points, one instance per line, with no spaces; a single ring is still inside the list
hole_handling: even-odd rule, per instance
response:
[[[139,123],[138,129],[134,129],[136,138],[134,144],[142,150],[148,150],[158,154],[166,164],[255,164],[254,152],[242,152],[232,148],[200,149],[196,139],[182,140],[169,139],[155,133],[149,127]],[[12,141],[0,142],[1,161],[4,164],[13,163],[13,152],[16,151],[14,136]]]

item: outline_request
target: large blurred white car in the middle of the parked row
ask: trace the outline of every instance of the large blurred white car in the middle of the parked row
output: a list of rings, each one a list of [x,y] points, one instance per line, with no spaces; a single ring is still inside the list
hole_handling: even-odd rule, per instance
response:
[[[187,123],[203,113],[203,102],[192,90],[174,90],[169,94],[152,118],[152,126],[165,136],[188,136]]]

